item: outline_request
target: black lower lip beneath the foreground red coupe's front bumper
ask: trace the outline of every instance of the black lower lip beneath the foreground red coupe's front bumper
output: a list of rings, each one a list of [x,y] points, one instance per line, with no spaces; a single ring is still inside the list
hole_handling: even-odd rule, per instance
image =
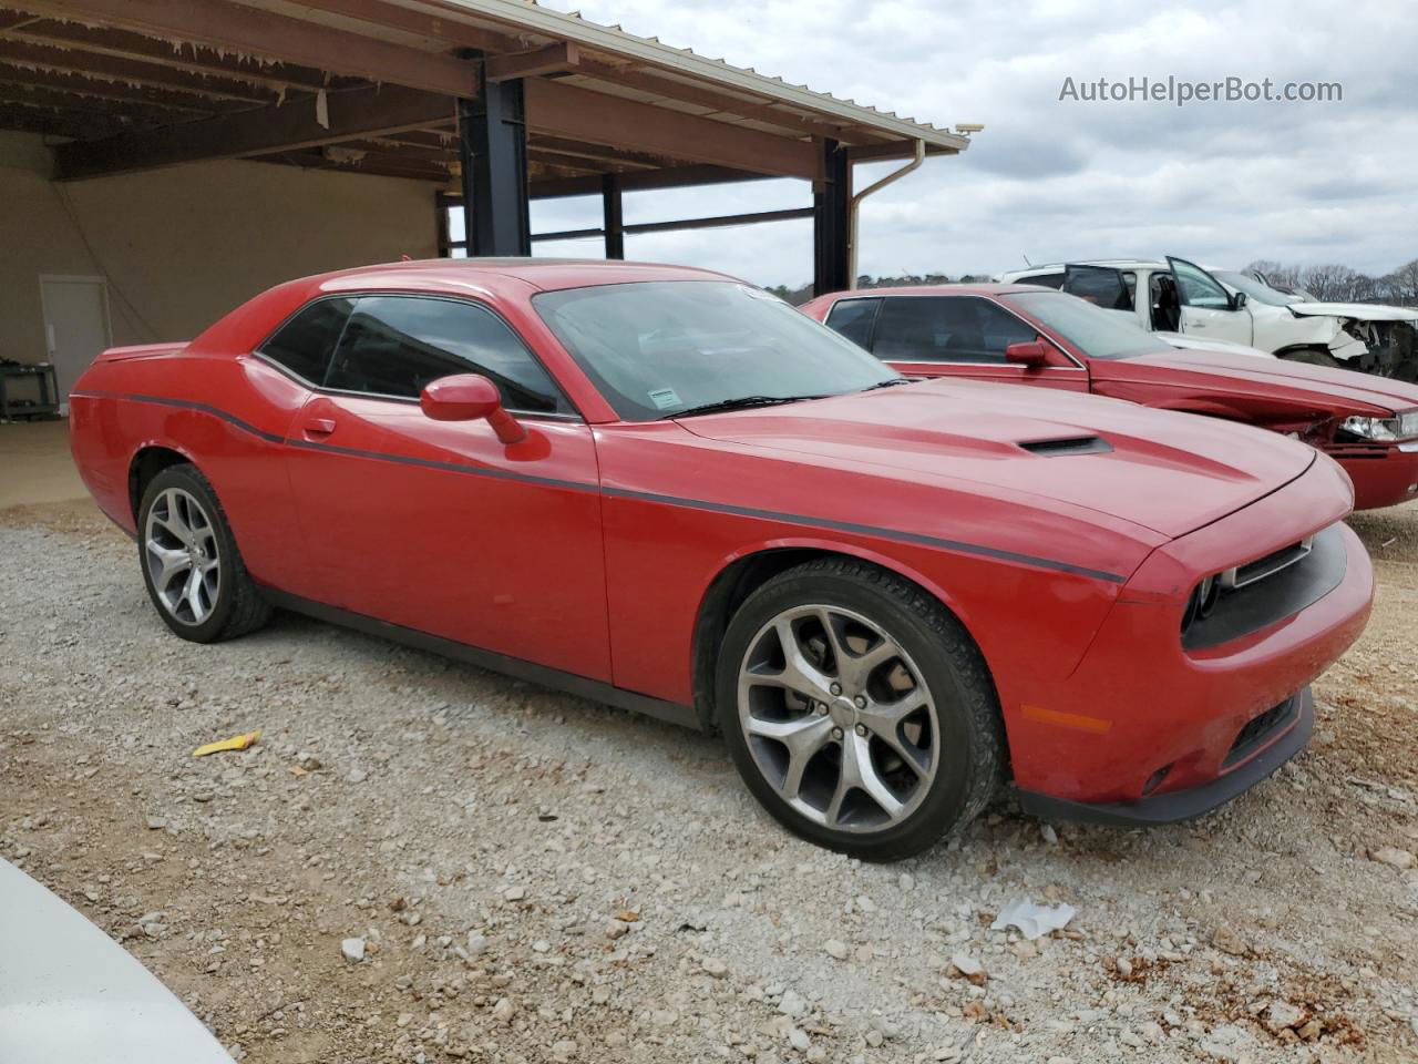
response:
[[[1176,824],[1193,820],[1224,806],[1231,799],[1249,790],[1256,783],[1272,776],[1285,762],[1305,749],[1314,728],[1314,699],[1306,687],[1289,699],[1289,725],[1276,728],[1266,736],[1259,752],[1241,760],[1225,775],[1210,783],[1201,783],[1185,790],[1170,790],[1151,794],[1133,803],[1069,802],[1051,794],[1021,792],[1020,803],[1024,811],[1041,820],[1078,820],[1089,824],[1113,827],[1149,827],[1153,824]]]

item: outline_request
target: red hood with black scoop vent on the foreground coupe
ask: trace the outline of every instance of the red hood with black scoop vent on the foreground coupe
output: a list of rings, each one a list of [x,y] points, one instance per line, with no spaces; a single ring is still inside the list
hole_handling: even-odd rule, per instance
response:
[[[1096,396],[927,380],[742,413],[686,417],[708,440],[889,468],[913,481],[966,482],[1107,514],[1181,536],[1309,468],[1314,453],[1246,426]],[[1102,441],[1059,448],[1049,441]],[[1028,450],[1028,445],[1041,450]]]

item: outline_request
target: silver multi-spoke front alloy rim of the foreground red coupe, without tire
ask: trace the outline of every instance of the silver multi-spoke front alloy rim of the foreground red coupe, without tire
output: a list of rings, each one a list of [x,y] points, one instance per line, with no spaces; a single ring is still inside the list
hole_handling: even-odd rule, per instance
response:
[[[916,810],[940,763],[939,718],[910,655],[835,606],[784,610],[739,668],[739,724],[763,779],[834,831],[881,831]]]

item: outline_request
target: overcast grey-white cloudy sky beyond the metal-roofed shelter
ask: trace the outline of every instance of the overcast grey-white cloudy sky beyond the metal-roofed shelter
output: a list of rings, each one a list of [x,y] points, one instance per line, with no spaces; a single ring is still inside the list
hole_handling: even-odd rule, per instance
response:
[[[937,126],[981,122],[862,209],[866,274],[995,272],[1176,254],[1214,265],[1418,257],[1418,20],[1408,4],[543,0]],[[1340,82],[1343,102],[1061,102],[1129,77]],[[856,169],[864,187],[891,166]],[[805,183],[638,193],[627,221],[807,206]],[[533,204],[533,230],[598,224],[598,200]],[[811,223],[631,237],[631,258],[757,284],[811,279]],[[539,254],[598,254],[597,241]]]

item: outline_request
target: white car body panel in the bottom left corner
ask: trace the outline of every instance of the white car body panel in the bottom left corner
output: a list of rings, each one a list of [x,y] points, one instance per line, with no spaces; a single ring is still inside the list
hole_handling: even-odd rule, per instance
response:
[[[0,861],[0,1061],[231,1064],[132,955]]]

